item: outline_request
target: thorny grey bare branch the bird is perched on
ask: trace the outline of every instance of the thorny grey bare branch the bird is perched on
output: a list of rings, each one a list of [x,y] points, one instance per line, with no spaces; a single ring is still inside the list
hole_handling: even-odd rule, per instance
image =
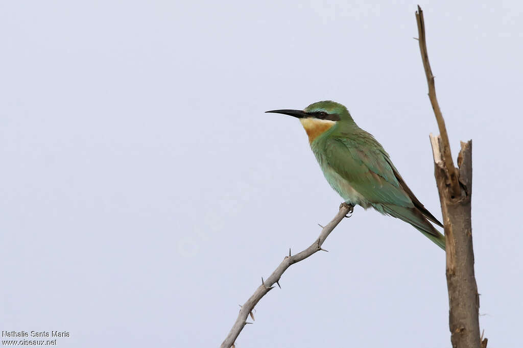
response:
[[[339,212],[336,214],[336,216],[332,219],[331,222],[329,222],[321,231],[320,236],[311,244],[311,246],[297,254],[294,254],[291,256],[290,249],[289,249],[289,256],[286,256],[283,258],[283,261],[281,261],[280,265],[272,272],[272,274],[267,278],[265,282],[262,281],[262,284],[258,286],[254,294],[249,297],[249,299],[246,301],[246,303],[241,306],[242,309],[240,309],[240,314],[238,314],[238,318],[236,319],[236,322],[234,323],[231,331],[221,344],[221,348],[230,348],[234,345],[234,342],[236,341],[236,338],[242,331],[243,327],[245,326],[245,321],[247,320],[247,316],[251,314],[252,310],[254,309],[254,306],[258,303],[258,301],[265,296],[269,292],[270,289],[272,289],[272,285],[275,283],[278,284],[278,281],[280,280],[281,275],[283,272],[285,272],[290,265],[300,262],[312,254],[314,254],[316,251],[323,250],[321,248],[323,242],[328,237],[329,234],[333,231],[333,229],[343,220],[345,215],[347,215],[350,211],[350,206],[346,204],[342,204],[339,207]],[[279,284],[278,284],[279,285]],[[254,318],[253,318],[254,320]]]

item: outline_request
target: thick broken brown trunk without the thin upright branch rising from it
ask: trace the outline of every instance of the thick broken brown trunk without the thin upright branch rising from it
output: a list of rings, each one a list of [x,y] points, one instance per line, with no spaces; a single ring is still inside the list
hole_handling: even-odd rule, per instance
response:
[[[472,249],[472,141],[461,143],[458,156],[460,195],[454,196],[442,156],[441,137],[430,135],[434,153],[434,175],[438,185],[445,243],[447,248],[447,286],[449,292],[449,328],[452,346],[480,348],[480,307],[474,276]],[[484,340],[486,346],[486,339]]]

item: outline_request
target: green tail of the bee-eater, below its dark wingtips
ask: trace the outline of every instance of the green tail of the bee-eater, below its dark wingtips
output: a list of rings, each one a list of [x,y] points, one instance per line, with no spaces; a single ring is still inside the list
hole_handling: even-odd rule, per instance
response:
[[[383,205],[383,211],[391,216],[402,219],[414,226],[438,247],[445,250],[445,236],[442,235],[417,208],[407,208],[397,205]]]

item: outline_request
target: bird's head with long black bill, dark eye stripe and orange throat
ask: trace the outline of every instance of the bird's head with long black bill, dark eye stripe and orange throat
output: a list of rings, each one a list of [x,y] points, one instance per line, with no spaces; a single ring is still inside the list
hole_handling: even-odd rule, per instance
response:
[[[303,110],[283,109],[266,112],[282,113],[300,119],[305,132],[309,135],[310,143],[339,122],[354,122],[345,106],[331,100],[312,103]]]

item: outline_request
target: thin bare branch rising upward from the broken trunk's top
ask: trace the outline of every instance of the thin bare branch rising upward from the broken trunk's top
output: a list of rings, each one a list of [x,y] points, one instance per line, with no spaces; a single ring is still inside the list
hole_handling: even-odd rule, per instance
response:
[[[458,182],[458,175],[456,172],[456,167],[454,167],[454,163],[452,161],[452,155],[450,153],[449,136],[447,135],[445,120],[443,119],[441,109],[439,108],[438,99],[436,98],[434,75],[432,74],[432,69],[430,68],[430,63],[428,61],[427,41],[425,38],[425,20],[423,18],[423,11],[419,5],[418,11],[416,12],[416,22],[418,24],[419,50],[422,54],[423,67],[425,68],[425,76],[427,77],[428,98],[430,99],[434,114],[436,115],[436,121],[438,122],[439,134],[441,134],[443,147],[442,154],[443,158],[445,159],[444,164],[447,168],[450,185],[452,187],[450,198],[459,197],[461,191]]]

